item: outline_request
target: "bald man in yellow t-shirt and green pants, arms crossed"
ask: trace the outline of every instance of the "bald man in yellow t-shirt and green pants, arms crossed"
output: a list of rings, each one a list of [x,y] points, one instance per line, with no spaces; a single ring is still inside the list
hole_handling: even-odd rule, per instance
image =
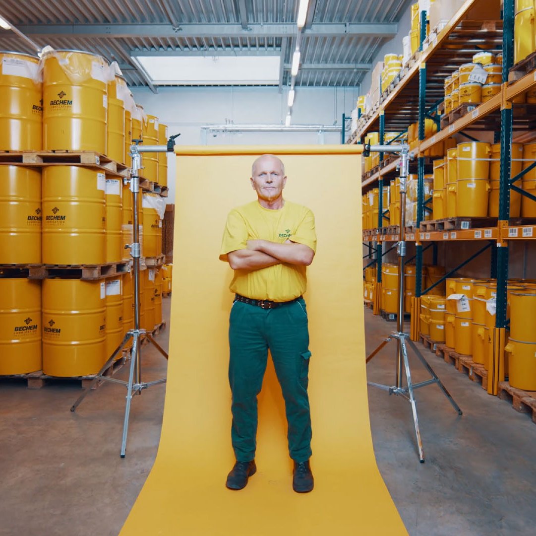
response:
[[[285,399],[293,489],[311,491],[311,417],[307,395],[309,332],[306,267],[316,251],[315,219],[283,199],[287,177],[281,160],[257,158],[251,186],[258,200],[230,211],[220,259],[234,270],[235,300],[229,318],[229,383],[233,395],[231,438],[236,463],[226,486],[242,489],[255,474],[257,395],[267,353]]]

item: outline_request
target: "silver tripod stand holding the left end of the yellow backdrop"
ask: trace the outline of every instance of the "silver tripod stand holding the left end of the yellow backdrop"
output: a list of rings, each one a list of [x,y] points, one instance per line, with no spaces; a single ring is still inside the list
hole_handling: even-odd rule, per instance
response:
[[[133,276],[134,276],[134,289],[133,289],[133,300],[134,300],[134,329],[130,329],[124,336],[121,344],[115,349],[114,353],[110,356],[108,361],[102,365],[101,370],[96,373],[95,377],[91,384],[86,387],[85,391],[78,397],[78,400],[72,405],[71,412],[74,412],[76,408],[80,405],[80,402],[84,400],[88,393],[92,390],[93,386],[97,381],[111,381],[111,383],[124,385],[126,387],[126,406],[125,406],[125,419],[123,424],[123,438],[121,442],[121,458],[125,457],[126,451],[126,436],[129,429],[129,416],[130,416],[130,403],[132,397],[135,394],[142,394],[142,390],[147,389],[153,385],[166,383],[166,378],[153,381],[142,381],[142,341],[147,339],[153,346],[162,354],[166,359],[168,355],[165,350],[163,350],[159,344],[153,339],[151,334],[147,333],[145,329],[140,328],[139,325],[139,307],[140,307],[140,293],[139,293],[139,259],[140,259],[140,243],[139,243],[139,227],[138,227],[138,196],[139,196],[139,170],[140,170],[140,161],[142,152],[173,152],[175,146],[175,136],[170,136],[168,139],[167,145],[138,145],[141,141],[140,139],[133,139],[135,145],[132,145],[131,156],[132,156],[132,174],[130,177],[130,190],[132,192],[132,244],[130,246],[130,254],[133,260]],[[111,378],[105,376],[105,371],[107,371],[110,365],[114,362],[115,356],[120,353],[121,349],[125,344],[132,338],[132,355],[130,357],[130,370],[129,370],[129,379],[128,381],[119,380],[117,378]]]

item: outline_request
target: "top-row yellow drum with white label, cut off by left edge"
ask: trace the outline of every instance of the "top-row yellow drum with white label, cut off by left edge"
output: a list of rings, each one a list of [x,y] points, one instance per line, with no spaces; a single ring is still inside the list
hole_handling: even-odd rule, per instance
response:
[[[42,131],[39,58],[0,52],[0,151],[40,151]]]

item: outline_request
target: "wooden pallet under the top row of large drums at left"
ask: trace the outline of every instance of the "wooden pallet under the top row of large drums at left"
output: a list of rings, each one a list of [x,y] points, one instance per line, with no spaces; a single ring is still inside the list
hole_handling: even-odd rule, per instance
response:
[[[76,166],[83,165],[110,175],[129,177],[130,169],[95,151],[5,151],[0,152],[0,165]]]

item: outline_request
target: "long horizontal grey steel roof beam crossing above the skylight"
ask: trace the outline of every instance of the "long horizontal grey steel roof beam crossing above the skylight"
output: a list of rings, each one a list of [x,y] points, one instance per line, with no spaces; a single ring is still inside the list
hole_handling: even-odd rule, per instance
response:
[[[21,25],[27,35],[76,35],[107,38],[278,38],[296,33],[295,24],[35,24]],[[392,38],[396,23],[321,23],[303,29],[304,37],[376,37]],[[0,31],[0,35],[4,32]]]

